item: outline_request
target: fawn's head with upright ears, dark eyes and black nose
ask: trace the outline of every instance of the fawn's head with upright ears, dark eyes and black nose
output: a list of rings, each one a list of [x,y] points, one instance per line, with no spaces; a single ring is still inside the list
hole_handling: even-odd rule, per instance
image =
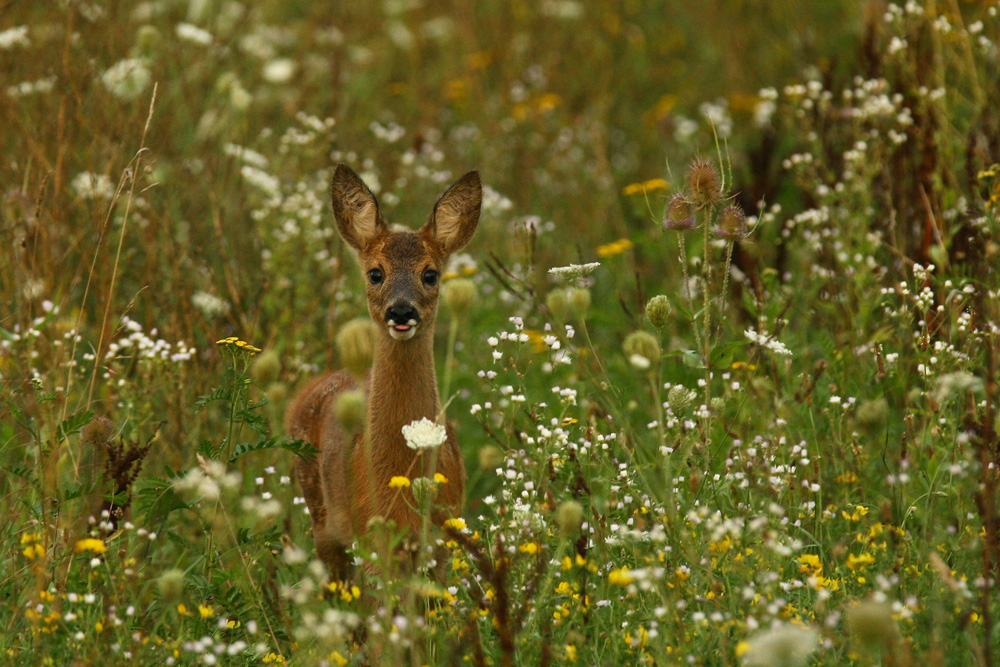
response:
[[[419,231],[390,229],[364,181],[349,167],[337,166],[337,229],[358,252],[368,313],[384,325],[384,334],[407,341],[431,329],[445,262],[472,239],[481,203],[479,174],[470,171],[441,195]]]

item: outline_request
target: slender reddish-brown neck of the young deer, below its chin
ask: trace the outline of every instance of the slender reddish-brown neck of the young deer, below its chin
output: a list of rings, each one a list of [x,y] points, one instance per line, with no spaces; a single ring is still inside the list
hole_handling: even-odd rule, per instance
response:
[[[440,410],[433,327],[407,342],[379,336],[368,390],[372,450],[389,454],[393,468],[408,466],[415,452],[406,446],[403,426],[422,417],[435,420]]]

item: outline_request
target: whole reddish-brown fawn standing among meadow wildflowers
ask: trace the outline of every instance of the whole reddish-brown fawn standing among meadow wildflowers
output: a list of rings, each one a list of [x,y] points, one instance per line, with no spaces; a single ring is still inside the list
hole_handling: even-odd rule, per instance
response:
[[[367,284],[368,313],[376,323],[374,360],[364,382],[367,423],[346,432],[334,415],[342,392],[358,388],[346,370],[310,382],[289,406],[286,429],[320,450],[297,459],[296,475],[305,494],[319,557],[331,576],[350,571],[346,547],[365,534],[375,516],[415,532],[420,516],[410,509],[408,489],[389,488],[394,476],[447,478],[437,503],[461,510],[465,465],[448,427],[434,453],[410,449],[402,427],[441,412],[434,371],[434,319],[440,273],[448,256],[463,248],[479,223],[482,187],[469,172],[438,199],[417,232],[390,229],[371,190],[349,167],[333,176],[333,212],[344,241],[358,253]],[[367,435],[367,437],[366,437]],[[431,464],[434,468],[431,469]]]

